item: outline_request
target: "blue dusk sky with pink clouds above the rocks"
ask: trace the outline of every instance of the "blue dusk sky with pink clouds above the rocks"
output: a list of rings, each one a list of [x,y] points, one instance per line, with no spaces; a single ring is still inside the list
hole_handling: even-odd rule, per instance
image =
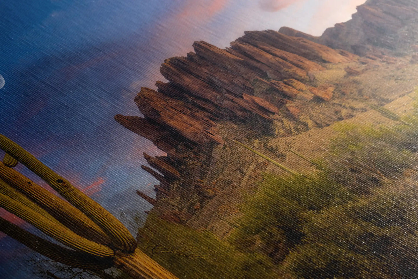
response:
[[[162,79],[164,59],[185,55],[196,40],[226,47],[246,30],[290,26],[319,35],[347,21],[362,2],[0,1],[0,133],[88,188],[117,217],[143,212],[150,205],[135,190],[153,195],[157,181],[140,168],[142,153],[163,153],[113,116],[140,116],[133,98],[140,86]],[[5,253],[18,249],[14,240],[0,239],[0,271],[33,278],[27,263]]]

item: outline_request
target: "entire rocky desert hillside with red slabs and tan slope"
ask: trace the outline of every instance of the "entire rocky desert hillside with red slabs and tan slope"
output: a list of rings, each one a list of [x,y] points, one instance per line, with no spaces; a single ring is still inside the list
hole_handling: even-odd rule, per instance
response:
[[[138,191],[154,205],[150,218],[227,239],[264,174],[286,173],[235,141],[304,177],[323,170],[311,160],[328,158],[344,127],[403,124],[415,111],[417,20],[415,1],[368,0],[320,37],[247,31],[226,49],[196,41],[166,59],[168,82],[135,97],[144,117],[115,116],[167,153],[144,153],[152,168],[143,169],[160,181],[155,198]],[[383,176],[367,179],[393,179]],[[286,245],[266,254],[283,261],[295,244]]]

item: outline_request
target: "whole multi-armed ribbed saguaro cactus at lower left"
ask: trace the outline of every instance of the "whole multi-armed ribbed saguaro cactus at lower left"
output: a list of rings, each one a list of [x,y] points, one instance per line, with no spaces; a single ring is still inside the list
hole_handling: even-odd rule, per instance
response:
[[[0,231],[55,261],[89,270],[110,266],[133,278],[176,279],[136,248],[125,226],[100,204],[29,152],[0,134],[6,152],[0,163],[0,207],[15,214],[68,248],[51,243],[0,218]],[[38,186],[13,167],[20,162],[66,201]]]

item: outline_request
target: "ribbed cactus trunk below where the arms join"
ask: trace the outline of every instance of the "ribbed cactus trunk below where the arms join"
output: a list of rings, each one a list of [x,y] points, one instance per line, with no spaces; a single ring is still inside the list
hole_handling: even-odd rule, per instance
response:
[[[140,249],[133,253],[116,252],[115,267],[138,279],[178,279]]]

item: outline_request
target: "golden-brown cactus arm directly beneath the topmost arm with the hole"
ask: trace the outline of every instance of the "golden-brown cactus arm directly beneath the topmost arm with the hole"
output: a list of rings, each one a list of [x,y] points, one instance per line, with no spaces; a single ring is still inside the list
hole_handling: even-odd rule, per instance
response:
[[[0,163],[0,178],[45,209],[74,233],[100,244],[111,243],[106,233],[78,209],[3,163]]]

